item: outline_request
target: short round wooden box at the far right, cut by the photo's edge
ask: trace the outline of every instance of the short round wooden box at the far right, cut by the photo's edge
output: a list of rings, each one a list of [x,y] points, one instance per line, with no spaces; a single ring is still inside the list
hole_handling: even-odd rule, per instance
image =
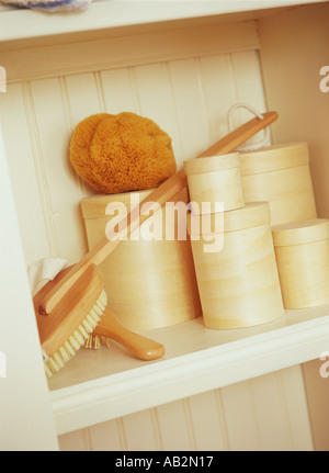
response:
[[[279,225],[272,235],[284,306],[329,303],[329,221]]]

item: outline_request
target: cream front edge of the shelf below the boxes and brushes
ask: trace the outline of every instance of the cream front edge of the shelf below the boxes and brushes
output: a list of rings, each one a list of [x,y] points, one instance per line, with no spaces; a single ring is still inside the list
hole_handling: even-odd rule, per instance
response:
[[[329,315],[54,391],[57,433],[288,368],[326,350]]]

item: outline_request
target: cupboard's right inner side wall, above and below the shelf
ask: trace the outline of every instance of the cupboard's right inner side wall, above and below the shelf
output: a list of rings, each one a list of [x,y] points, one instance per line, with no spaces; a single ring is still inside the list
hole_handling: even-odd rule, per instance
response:
[[[259,22],[261,64],[268,104],[270,108],[275,104],[281,115],[280,121],[272,126],[273,142],[308,143],[314,193],[318,217],[321,218],[329,217],[327,168],[329,95],[319,89],[322,78],[319,75],[320,68],[328,64],[328,16],[329,4],[326,2],[321,5],[305,5],[296,11],[287,11]],[[297,79],[302,77],[303,80]],[[298,87],[295,87],[297,82]],[[302,110],[314,110],[311,115],[314,120]],[[291,126],[292,123],[294,126]],[[319,354],[320,350],[316,358]],[[318,421],[319,416],[328,417],[326,403],[320,401],[326,396],[326,386],[320,382],[324,380],[318,380],[317,362],[310,363],[308,371],[309,375],[305,376],[305,383],[309,393],[308,406],[315,449],[328,450],[328,432],[324,423]]]

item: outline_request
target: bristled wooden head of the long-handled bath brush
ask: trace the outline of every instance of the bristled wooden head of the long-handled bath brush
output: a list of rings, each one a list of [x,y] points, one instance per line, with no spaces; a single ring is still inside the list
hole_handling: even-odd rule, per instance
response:
[[[41,314],[41,301],[69,270],[61,271],[33,297],[47,376],[59,371],[84,346],[107,304],[102,273],[91,264],[48,315]]]

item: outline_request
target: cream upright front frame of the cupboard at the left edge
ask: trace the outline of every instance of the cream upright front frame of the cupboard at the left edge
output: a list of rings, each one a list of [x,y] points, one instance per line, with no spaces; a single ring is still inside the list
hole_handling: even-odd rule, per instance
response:
[[[58,450],[0,133],[0,450]]]

